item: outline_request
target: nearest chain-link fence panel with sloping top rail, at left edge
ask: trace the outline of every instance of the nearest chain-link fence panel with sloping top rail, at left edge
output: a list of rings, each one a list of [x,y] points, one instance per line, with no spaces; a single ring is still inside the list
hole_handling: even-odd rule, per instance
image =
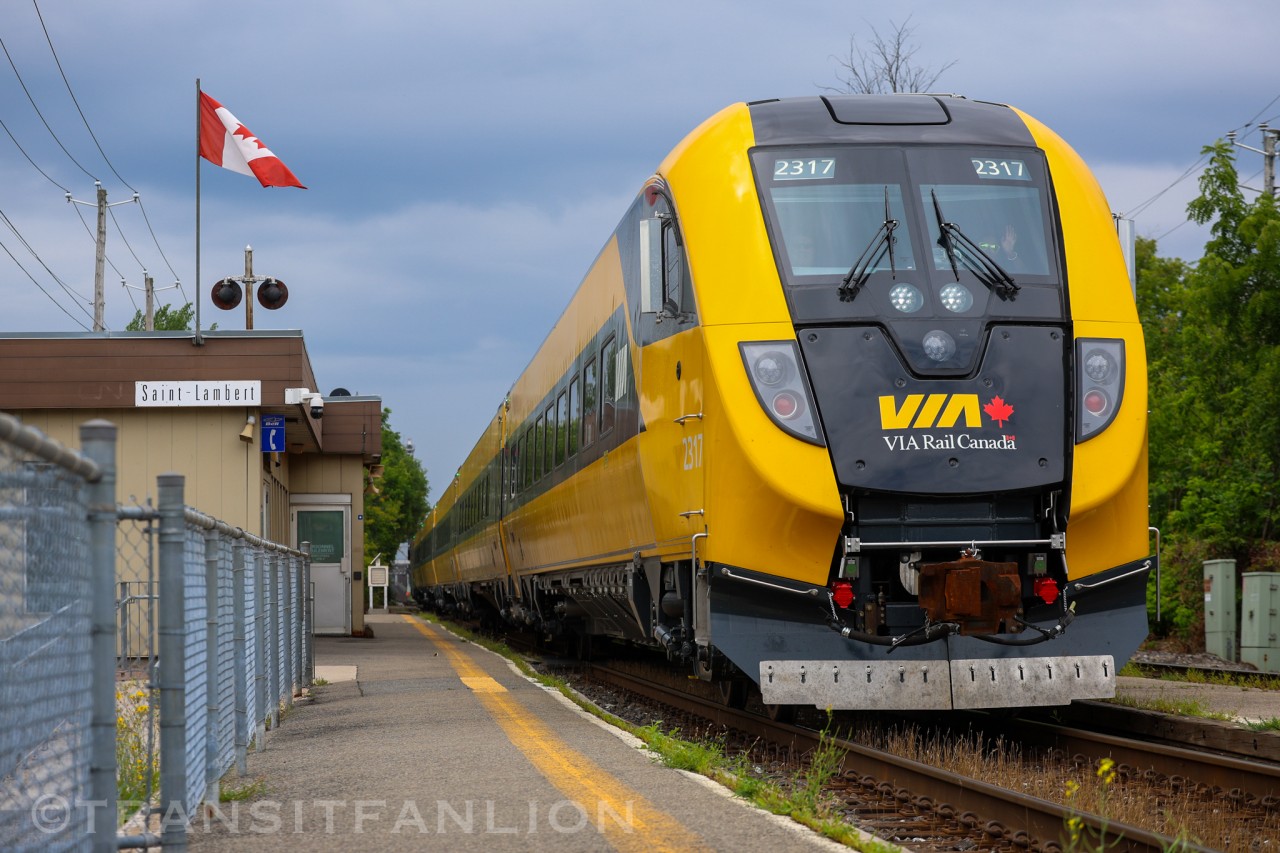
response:
[[[0,847],[83,847],[93,758],[88,460],[0,421]],[[109,679],[114,672],[108,672]]]

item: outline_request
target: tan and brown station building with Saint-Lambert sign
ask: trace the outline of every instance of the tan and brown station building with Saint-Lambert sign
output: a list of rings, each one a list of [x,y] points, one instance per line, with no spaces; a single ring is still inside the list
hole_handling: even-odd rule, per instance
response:
[[[320,394],[301,332],[0,333],[0,411],[68,447],[87,420],[115,424],[118,503],[145,503],[177,473],[187,506],[310,542],[315,633],[364,633],[381,400]]]

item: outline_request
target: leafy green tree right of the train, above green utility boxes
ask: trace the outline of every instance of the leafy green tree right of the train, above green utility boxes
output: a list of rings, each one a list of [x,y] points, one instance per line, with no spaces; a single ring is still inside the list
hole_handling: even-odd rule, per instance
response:
[[[1202,560],[1280,569],[1280,211],[1249,201],[1234,149],[1204,147],[1192,220],[1210,225],[1194,266],[1139,241],[1138,293],[1151,375],[1151,515],[1162,532],[1164,601],[1199,635]]]

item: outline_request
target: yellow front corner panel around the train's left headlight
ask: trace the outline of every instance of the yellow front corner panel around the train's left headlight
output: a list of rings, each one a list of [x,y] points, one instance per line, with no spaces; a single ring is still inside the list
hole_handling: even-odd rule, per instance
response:
[[[824,447],[774,425],[739,343],[795,341],[748,152],[750,110],[722,110],[663,163],[707,339],[703,464],[707,544],[699,556],[824,585],[842,510]]]

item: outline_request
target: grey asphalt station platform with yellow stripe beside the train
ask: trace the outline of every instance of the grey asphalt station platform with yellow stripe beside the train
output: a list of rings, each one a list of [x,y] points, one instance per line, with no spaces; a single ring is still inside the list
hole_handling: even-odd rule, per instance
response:
[[[316,638],[329,684],[250,753],[243,783],[261,790],[206,807],[189,849],[847,849],[663,766],[442,628],[410,615],[367,622],[374,638]]]

